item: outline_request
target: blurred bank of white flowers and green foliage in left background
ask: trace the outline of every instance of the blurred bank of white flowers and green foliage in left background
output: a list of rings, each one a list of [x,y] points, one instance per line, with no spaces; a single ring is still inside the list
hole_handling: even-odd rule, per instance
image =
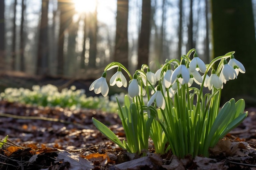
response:
[[[75,86],[70,89],[64,88],[61,92],[54,85],[46,86],[34,85],[32,90],[26,88],[6,88],[1,93],[1,99],[8,102],[19,102],[34,106],[49,106],[80,109],[80,108],[97,108],[103,111],[117,112],[117,103],[109,100],[108,97],[87,97],[85,90],[76,90]]]

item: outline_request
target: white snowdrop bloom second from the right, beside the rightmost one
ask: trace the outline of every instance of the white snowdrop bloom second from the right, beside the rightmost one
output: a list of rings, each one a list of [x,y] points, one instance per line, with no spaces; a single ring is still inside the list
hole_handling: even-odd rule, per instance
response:
[[[227,60],[224,60],[222,70],[220,72],[220,80],[226,84],[230,79],[237,78],[236,71],[232,66],[227,64]]]

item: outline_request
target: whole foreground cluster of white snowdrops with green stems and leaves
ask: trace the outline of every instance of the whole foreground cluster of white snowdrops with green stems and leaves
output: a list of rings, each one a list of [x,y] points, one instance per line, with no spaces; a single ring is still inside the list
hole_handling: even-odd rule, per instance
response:
[[[218,68],[214,68],[216,62],[219,63]],[[211,63],[204,64],[195,49],[191,49],[186,55],[181,56],[181,60],[166,60],[155,73],[151,72],[146,64],[143,64],[141,69],[135,71],[133,75],[122,64],[112,62],[106,66],[102,77],[91,84],[89,90],[94,90],[96,94],[101,93],[103,96],[108,95],[106,74],[107,71],[116,67],[117,73],[110,78],[110,86],[128,86],[128,95],[134,104],[124,102],[124,106],[119,105],[119,116],[124,119],[126,138],[130,136],[127,133],[132,133],[128,130],[129,124],[126,120],[129,121],[132,118],[127,114],[133,111],[137,115],[142,115],[138,118],[143,120],[130,121],[132,127],[137,126],[141,134],[144,133],[143,130],[149,128],[148,135],[154,143],[158,143],[155,147],[159,146],[159,148],[155,149],[160,153],[165,152],[163,147],[160,149],[160,146],[165,145],[168,141],[172,152],[179,157],[184,157],[187,154],[207,156],[208,148],[213,147],[219,138],[227,134],[247,116],[247,113],[243,113],[244,110],[239,110],[239,113],[235,110],[238,105],[244,108],[243,99],[238,102],[231,99],[225,107],[223,106],[223,110],[227,108],[231,110],[229,114],[222,115],[222,111],[219,110],[220,93],[224,84],[229,80],[236,79],[238,73],[245,73],[245,67],[234,58],[234,52],[216,57]],[[122,71],[130,77],[129,82]],[[193,83],[200,85],[200,88],[195,88]],[[203,94],[203,88],[208,88],[211,93]],[[143,100],[145,96],[148,98],[146,104]],[[129,105],[132,105],[133,109],[129,110]],[[151,117],[151,115],[153,116]],[[221,116],[228,119],[225,124],[219,122]],[[222,118],[224,119],[224,117]],[[139,121],[141,122],[138,123]],[[97,123],[95,122],[95,124]],[[154,127],[148,124],[154,124]],[[159,132],[159,129],[162,131]],[[104,130],[101,132],[107,134]],[[140,136],[137,136],[137,143],[144,140],[143,144],[145,145],[148,136],[144,139],[141,139]],[[161,145],[159,145],[159,140],[162,142],[160,142]],[[128,150],[132,145],[136,145],[134,142],[123,141],[125,145],[120,143],[118,142],[120,147]],[[140,148],[141,145],[138,145],[137,148]],[[144,147],[144,149],[146,148]]]

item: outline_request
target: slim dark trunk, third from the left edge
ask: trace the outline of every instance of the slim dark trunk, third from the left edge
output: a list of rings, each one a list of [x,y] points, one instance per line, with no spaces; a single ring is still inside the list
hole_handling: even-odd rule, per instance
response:
[[[25,12],[25,0],[21,1],[21,21],[20,21],[20,71],[25,71],[25,59],[24,59],[24,12]]]

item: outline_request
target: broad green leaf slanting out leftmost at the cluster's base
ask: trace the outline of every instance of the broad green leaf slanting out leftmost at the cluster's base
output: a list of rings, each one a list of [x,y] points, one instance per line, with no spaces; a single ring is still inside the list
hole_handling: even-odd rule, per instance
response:
[[[125,149],[124,145],[122,144],[122,142],[118,139],[117,135],[115,135],[114,132],[112,132],[107,126],[105,126],[103,123],[101,123],[100,121],[98,121],[97,119],[94,119],[92,117],[92,122],[93,124],[97,127],[97,129],[106,137],[108,137],[108,139],[110,139],[111,141],[115,142],[115,144],[117,144],[119,147]]]

